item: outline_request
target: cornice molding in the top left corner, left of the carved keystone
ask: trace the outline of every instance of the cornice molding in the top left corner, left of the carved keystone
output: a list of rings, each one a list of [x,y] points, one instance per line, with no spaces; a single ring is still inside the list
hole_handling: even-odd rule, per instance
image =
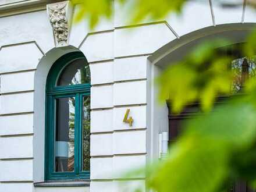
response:
[[[47,4],[61,1],[63,0],[23,0],[14,3],[6,3],[5,5],[0,5],[0,17],[46,10]]]

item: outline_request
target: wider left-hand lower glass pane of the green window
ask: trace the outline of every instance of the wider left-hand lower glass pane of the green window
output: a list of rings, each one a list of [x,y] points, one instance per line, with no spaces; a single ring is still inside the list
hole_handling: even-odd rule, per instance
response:
[[[74,171],[74,97],[56,99],[55,172]]]

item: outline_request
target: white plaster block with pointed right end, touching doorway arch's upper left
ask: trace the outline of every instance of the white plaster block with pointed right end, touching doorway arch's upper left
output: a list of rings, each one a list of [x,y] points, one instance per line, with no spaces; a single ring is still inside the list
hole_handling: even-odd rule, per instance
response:
[[[115,57],[152,54],[175,38],[175,35],[164,23],[116,29]]]

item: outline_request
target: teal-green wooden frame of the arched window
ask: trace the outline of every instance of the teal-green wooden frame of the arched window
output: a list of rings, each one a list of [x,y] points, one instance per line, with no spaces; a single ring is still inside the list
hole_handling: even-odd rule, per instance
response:
[[[73,180],[90,179],[90,170],[83,170],[83,107],[84,97],[88,98],[90,106],[90,83],[72,84],[67,86],[57,86],[63,70],[77,59],[84,59],[81,52],[72,52],[59,58],[51,67],[46,84],[46,111],[45,111],[45,180]],[[90,70],[90,69],[89,69]],[[90,71],[89,71],[90,72]],[[74,98],[74,161],[73,171],[55,171],[55,150],[56,150],[56,99]],[[90,111],[90,109],[89,109]],[[89,114],[90,117],[90,114]],[[90,125],[90,123],[89,123]],[[90,150],[90,135],[87,146]],[[90,152],[89,157],[90,158]],[[90,163],[90,159],[89,159]]]

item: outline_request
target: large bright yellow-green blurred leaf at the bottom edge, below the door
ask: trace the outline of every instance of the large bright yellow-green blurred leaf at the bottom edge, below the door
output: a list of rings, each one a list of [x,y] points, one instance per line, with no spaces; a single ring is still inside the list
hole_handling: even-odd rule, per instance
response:
[[[219,143],[187,138],[171,148],[148,187],[158,192],[214,192],[226,177],[226,157],[227,150]]]

